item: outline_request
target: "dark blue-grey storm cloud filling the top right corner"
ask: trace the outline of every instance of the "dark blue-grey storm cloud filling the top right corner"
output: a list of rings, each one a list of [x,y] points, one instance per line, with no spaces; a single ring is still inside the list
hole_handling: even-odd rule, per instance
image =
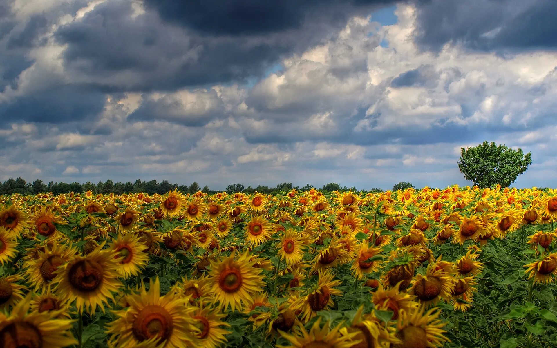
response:
[[[557,48],[554,0],[431,0],[418,6],[418,42],[439,50],[461,43],[475,50]]]

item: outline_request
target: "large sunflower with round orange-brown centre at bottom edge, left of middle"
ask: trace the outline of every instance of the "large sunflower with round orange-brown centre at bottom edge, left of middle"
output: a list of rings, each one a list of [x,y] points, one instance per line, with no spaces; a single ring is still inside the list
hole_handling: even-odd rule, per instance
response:
[[[149,281],[149,291],[142,285],[139,293],[126,296],[125,301],[129,306],[113,311],[116,320],[106,331],[116,347],[136,347],[141,342],[164,348],[197,346],[199,330],[192,319],[196,307],[185,306],[184,298],[172,292],[160,296],[158,277]]]

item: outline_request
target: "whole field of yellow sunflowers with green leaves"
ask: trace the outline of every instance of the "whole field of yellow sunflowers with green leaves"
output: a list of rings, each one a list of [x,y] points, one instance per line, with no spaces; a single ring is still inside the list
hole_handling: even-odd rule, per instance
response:
[[[0,197],[0,347],[557,346],[557,190]]]

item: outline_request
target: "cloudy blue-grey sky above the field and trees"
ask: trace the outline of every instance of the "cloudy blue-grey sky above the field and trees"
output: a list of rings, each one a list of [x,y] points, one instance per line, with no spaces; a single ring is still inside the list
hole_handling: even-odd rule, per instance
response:
[[[0,180],[557,187],[554,0],[0,2]]]

